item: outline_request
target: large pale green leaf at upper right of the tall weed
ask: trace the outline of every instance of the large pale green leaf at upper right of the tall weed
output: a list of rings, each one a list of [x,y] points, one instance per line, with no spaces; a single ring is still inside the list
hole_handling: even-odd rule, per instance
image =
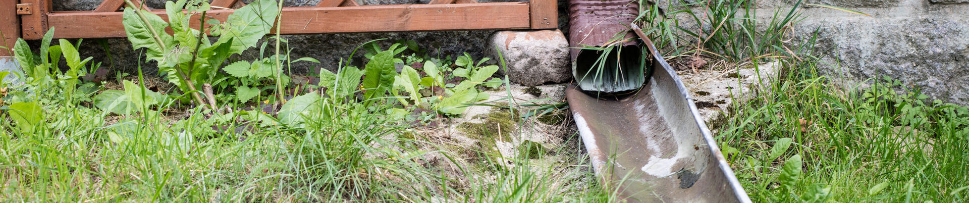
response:
[[[221,24],[221,37],[218,42],[226,43],[234,39],[233,53],[241,53],[253,48],[271,31],[278,13],[274,0],[256,0],[236,9],[233,15]]]

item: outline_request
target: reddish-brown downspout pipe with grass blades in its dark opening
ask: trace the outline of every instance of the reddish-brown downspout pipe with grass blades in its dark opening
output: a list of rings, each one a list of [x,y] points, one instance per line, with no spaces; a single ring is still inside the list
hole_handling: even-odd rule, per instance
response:
[[[572,70],[582,90],[623,92],[645,82],[646,57],[629,27],[639,14],[638,0],[569,0]],[[611,51],[576,49],[584,47]]]

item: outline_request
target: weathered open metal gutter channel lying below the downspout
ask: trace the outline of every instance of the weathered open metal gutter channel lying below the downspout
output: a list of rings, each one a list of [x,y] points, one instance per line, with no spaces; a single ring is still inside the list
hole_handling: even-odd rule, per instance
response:
[[[635,94],[566,89],[596,174],[628,202],[750,202],[687,88],[652,42],[644,46],[653,74]]]

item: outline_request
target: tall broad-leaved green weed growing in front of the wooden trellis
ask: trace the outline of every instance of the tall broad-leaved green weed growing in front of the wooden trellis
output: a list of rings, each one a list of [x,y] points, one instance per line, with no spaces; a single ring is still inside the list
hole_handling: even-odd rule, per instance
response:
[[[242,53],[257,45],[270,32],[279,9],[273,0],[256,0],[245,7],[235,10],[226,21],[205,16],[211,7],[203,0],[169,1],[165,5],[166,22],[162,17],[141,10],[139,5],[127,1],[130,7],[124,11],[125,32],[135,49],[146,50],[146,60],[158,63],[160,74],[166,75],[169,82],[183,92],[191,93],[199,104],[207,104],[199,94],[203,84],[213,84],[219,79],[219,67],[234,54]],[[195,17],[196,15],[200,17]],[[193,19],[199,20],[198,29],[190,26]],[[208,26],[206,26],[208,25]],[[172,34],[166,32],[172,30]],[[206,37],[209,32],[218,37],[214,42]],[[266,59],[255,62],[261,65],[275,64]],[[242,63],[235,64],[235,68]],[[250,63],[250,69],[254,65]],[[234,70],[234,69],[233,69]],[[253,76],[277,76],[273,69],[257,68]],[[231,74],[234,77],[250,78],[244,74]],[[248,87],[248,86],[247,86]],[[239,88],[242,96],[258,94],[251,89]],[[248,100],[248,99],[246,99]],[[208,104],[217,109],[215,104]]]

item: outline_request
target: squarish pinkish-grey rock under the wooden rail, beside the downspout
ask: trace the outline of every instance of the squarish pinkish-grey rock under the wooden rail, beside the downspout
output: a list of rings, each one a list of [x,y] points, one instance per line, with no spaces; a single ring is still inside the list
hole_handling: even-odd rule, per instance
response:
[[[490,39],[489,47],[505,57],[512,82],[534,86],[572,79],[569,41],[560,30],[498,31]]]

